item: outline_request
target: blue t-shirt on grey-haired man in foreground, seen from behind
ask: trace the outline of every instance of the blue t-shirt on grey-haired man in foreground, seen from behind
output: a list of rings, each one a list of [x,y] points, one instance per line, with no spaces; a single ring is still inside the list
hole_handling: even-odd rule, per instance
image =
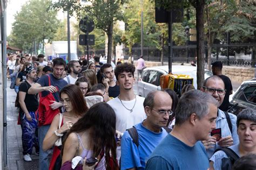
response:
[[[146,169],[176,169],[176,170],[207,170],[209,160],[204,145],[197,141],[194,146],[188,146],[168,134],[153,151]]]

